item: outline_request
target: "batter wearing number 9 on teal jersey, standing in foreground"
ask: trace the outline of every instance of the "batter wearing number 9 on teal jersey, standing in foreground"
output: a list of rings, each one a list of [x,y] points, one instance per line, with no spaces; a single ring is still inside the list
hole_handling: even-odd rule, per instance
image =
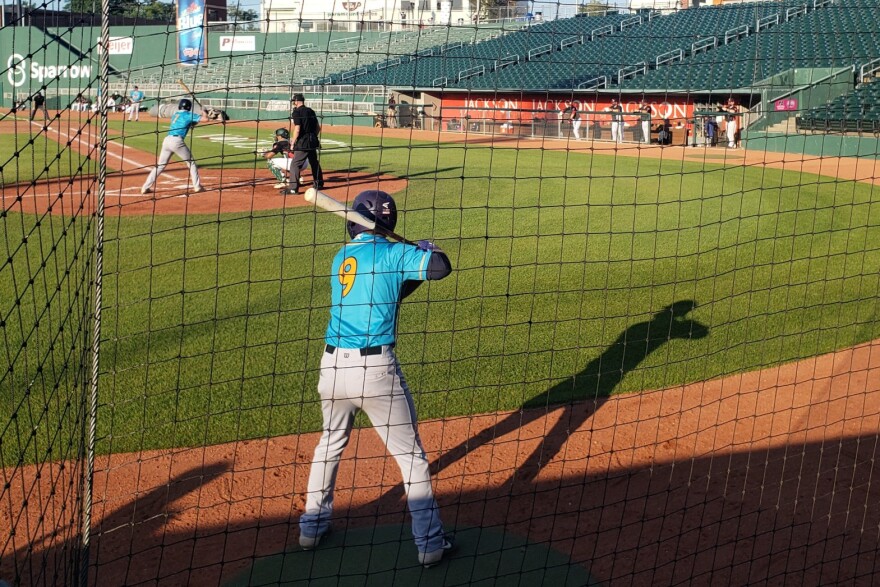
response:
[[[388,230],[397,223],[396,204],[385,192],[361,192],[352,207]],[[312,459],[300,546],[316,547],[330,530],[339,458],[355,414],[363,410],[400,467],[418,560],[430,567],[452,541],[440,521],[415,405],[394,344],[400,301],[424,280],[449,275],[452,266],[429,241],[391,242],[353,222],[347,227],[351,241],[331,266],[330,322],[318,381],[324,432]]]

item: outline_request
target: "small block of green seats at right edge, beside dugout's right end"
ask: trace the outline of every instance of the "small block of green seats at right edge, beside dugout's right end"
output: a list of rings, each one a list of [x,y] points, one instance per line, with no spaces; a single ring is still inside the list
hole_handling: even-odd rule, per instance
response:
[[[860,85],[825,106],[797,117],[799,130],[821,132],[880,132],[880,80]]]

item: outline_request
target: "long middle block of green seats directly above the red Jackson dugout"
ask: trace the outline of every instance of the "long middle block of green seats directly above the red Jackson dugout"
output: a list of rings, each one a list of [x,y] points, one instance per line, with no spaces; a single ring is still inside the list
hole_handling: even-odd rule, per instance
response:
[[[396,87],[545,90],[607,87],[664,60],[681,59],[695,40],[779,20],[790,3],[748,3],[657,13],[572,18],[545,23],[466,50],[446,50],[352,76]],[[773,20],[776,16],[775,21]],[[731,33],[732,31],[732,33]],[[738,32],[739,31],[739,32]],[[742,33],[744,34],[744,33]]]

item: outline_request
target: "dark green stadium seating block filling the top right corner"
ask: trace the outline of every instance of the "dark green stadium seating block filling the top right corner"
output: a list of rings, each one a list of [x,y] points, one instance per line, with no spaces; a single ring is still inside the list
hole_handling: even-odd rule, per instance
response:
[[[792,68],[858,66],[880,56],[878,19],[877,0],[840,0],[737,42],[719,43],[715,49],[659,67],[620,87],[727,91],[754,87]]]

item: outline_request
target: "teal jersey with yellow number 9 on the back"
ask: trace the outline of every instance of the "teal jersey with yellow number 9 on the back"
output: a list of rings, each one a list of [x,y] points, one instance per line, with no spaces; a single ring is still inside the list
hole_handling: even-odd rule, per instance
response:
[[[324,340],[340,348],[393,344],[404,281],[427,278],[430,251],[363,232],[333,259]]]

